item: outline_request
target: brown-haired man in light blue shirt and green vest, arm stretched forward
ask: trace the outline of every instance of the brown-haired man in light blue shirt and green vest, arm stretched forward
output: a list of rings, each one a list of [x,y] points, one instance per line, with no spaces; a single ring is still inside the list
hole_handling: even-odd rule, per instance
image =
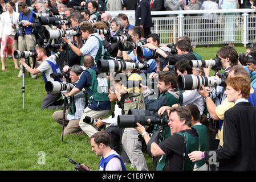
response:
[[[82,40],[86,40],[86,43],[82,48],[79,49],[74,44],[72,44],[70,40],[68,40],[67,36],[66,38],[62,38],[62,40],[70,46],[76,55],[91,55],[94,58],[95,63],[97,63],[97,61],[102,59],[104,56],[103,40],[98,33],[95,33],[94,28],[90,22],[80,23],[79,28],[81,31]]]

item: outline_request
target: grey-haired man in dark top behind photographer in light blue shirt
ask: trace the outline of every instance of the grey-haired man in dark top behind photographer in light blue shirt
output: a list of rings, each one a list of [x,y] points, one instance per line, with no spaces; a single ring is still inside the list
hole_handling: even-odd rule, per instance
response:
[[[122,27],[122,21],[119,18],[113,18],[110,22],[110,28],[111,31],[114,32],[113,36],[119,35],[119,32],[121,32]],[[117,57],[118,52],[118,45],[119,42],[113,42],[109,43],[107,39],[105,39],[103,34],[100,34],[101,38],[103,39],[104,47],[107,48],[107,51],[109,52],[110,56],[115,59]]]

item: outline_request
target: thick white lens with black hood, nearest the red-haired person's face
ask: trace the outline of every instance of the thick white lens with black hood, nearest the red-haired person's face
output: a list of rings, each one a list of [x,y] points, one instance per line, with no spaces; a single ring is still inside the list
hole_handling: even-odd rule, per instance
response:
[[[218,78],[216,76],[197,76],[197,75],[179,75],[178,76],[178,88],[180,90],[194,90],[204,86],[225,86],[225,78]]]

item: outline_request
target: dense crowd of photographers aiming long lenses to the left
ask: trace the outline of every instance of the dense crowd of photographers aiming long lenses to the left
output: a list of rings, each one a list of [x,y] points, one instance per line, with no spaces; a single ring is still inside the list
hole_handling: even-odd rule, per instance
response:
[[[160,47],[159,35],[145,36],[127,15],[112,18],[99,8],[96,1],[18,3],[19,19],[12,22],[18,77],[43,74],[47,93],[41,109],[58,109],[52,117],[63,127],[62,136],[90,137],[96,155],[103,156],[99,170],[124,170],[131,163],[147,171],[144,151],[154,156],[157,170],[218,169],[204,160],[208,153],[201,152],[198,161],[188,154],[226,148],[224,116],[234,106],[225,94],[230,72],[250,79],[248,101],[256,104],[255,44],[246,47],[246,55],[224,46],[213,59],[202,60],[188,36]],[[233,169],[221,166],[224,159],[217,161],[220,169]]]

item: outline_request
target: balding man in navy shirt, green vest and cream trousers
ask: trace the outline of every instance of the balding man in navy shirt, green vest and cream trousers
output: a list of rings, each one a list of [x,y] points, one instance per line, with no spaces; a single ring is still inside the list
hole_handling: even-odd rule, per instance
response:
[[[70,93],[65,94],[66,97],[74,96],[79,93],[83,88],[86,90],[87,99],[89,104],[84,109],[82,118],[80,119],[79,125],[81,129],[89,137],[97,133],[95,126],[90,125],[90,123],[84,122],[84,118],[88,115],[93,119],[104,118],[111,110],[111,102],[108,98],[108,81],[107,78],[97,78],[96,76],[96,65],[94,64],[94,58],[90,55],[83,57],[83,66],[86,71],[82,73],[79,78],[78,83],[70,91]],[[99,93],[101,90],[101,93]],[[104,92],[103,92],[104,91]]]

